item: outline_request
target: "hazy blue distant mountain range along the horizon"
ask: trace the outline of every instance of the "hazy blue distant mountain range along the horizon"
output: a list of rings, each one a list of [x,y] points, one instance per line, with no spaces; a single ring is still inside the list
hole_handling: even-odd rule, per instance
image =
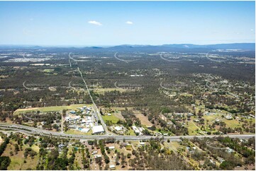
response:
[[[32,45],[0,45],[0,49],[91,49],[91,50],[122,50],[122,51],[166,51],[166,50],[212,50],[212,49],[242,49],[242,50],[255,50],[255,43],[230,43],[230,44],[216,44],[216,45],[193,45],[193,44],[170,44],[170,45],[118,45],[112,47],[41,47]]]

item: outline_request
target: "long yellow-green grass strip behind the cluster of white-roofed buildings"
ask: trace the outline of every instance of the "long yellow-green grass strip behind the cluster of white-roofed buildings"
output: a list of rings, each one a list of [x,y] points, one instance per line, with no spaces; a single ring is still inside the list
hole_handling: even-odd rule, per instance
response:
[[[62,111],[62,110],[77,110],[77,107],[83,106],[91,106],[88,104],[77,104],[77,105],[69,105],[69,106],[50,106],[50,107],[33,107],[28,109],[18,109],[13,114],[22,114],[26,112],[40,111],[40,112],[52,112],[52,111]]]

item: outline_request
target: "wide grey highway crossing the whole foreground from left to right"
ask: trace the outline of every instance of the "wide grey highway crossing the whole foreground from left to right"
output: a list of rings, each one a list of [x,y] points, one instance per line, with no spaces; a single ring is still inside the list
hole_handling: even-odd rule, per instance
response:
[[[30,127],[30,126],[24,126],[24,125],[19,125],[19,124],[7,124],[7,123],[2,123],[0,122],[0,128],[1,129],[12,129],[13,131],[18,131],[24,134],[40,134],[41,136],[45,135],[45,136],[56,136],[56,137],[60,137],[60,138],[75,138],[75,139],[79,139],[79,140],[99,140],[99,139],[104,139],[104,138],[115,138],[116,140],[136,140],[136,141],[140,141],[140,140],[148,140],[150,138],[156,138],[156,136],[121,136],[121,135],[76,135],[76,134],[65,134],[62,132],[56,132],[56,131],[48,131],[48,130],[44,130],[44,129],[38,129],[38,128],[34,128],[34,127]],[[26,130],[24,130],[26,129]],[[230,138],[252,138],[255,137],[255,134],[245,134],[245,135],[221,135],[221,136],[229,136]],[[179,141],[180,138],[204,138],[204,137],[208,137],[208,138],[213,138],[216,137],[216,135],[204,135],[204,136],[159,136],[159,137],[163,137],[165,140],[170,140],[170,141]]]

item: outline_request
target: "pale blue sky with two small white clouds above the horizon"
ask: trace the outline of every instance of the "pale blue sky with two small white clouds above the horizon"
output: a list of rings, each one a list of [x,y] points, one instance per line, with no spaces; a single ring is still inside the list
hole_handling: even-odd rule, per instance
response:
[[[0,45],[255,42],[255,1],[0,1]]]

